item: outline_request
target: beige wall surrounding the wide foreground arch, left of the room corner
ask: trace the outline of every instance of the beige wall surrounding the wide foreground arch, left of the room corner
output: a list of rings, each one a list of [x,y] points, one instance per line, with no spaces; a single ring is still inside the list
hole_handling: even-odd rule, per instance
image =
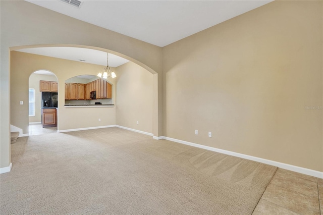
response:
[[[10,165],[10,50],[34,46],[77,46],[109,51],[161,74],[161,48],[26,1],[0,1],[0,167]],[[160,79],[161,80],[161,79]],[[157,89],[156,89],[157,90]],[[155,100],[161,101],[161,87]],[[158,102],[157,102],[158,103]],[[155,135],[162,132],[161,104],[154,113]],[[99,111],[100,112],[100,111]],[[93,122],[94,124],[94,122]]]

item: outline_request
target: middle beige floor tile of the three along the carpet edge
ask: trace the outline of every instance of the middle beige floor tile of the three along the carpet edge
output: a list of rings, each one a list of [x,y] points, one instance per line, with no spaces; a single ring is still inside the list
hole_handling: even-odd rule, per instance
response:
[[[300,214],[319,214],[318,198],[269,184],[264,191],[262,199],[280,205],[286,209]]]

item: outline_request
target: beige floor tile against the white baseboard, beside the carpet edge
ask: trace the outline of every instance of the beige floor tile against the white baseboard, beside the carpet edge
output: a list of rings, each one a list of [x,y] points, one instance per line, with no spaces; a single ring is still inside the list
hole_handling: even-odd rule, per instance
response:
[[[297,173],[298,174],[298,173]],[[297,175],[296,174],[296,175]],[[285,171],[276,172],[274,175],[271,183],[278,185],[280,187],[284,187],[290,190],[297,191],[299,193],[312,196],[312,197],[318,197],[317,195],[317,182],[306,180],[303,178],[295,177],[294,173],[288,173]]]

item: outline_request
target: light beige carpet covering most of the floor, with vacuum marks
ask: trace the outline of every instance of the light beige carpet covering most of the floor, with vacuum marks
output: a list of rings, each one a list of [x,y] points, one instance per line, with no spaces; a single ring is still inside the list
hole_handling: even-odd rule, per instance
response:
[[[120,128],[11,147],[1,214],[251,214],[277,169]]]

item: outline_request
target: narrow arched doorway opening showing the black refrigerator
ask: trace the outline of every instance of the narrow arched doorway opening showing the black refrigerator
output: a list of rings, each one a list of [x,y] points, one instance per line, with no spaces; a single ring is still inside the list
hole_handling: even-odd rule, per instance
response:
[[[57,76],[49,70],[37,70],[29,76],[28,84],[29,135],[57,132]]]

